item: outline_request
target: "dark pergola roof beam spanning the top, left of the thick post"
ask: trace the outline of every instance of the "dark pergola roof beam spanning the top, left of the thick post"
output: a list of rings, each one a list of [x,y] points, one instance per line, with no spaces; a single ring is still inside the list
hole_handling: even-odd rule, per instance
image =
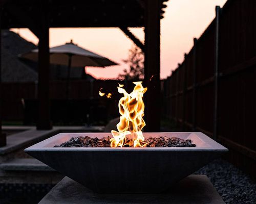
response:
[[[3,1],[3,0],[1,0]],[[34,1],[7,0],[5,8],[18,7],[37,22],[40,2],[49,3],[50,28],[144,27],[143,9],[137,0],[123,1]],[[27,28],[5,9],[3,28]],[[131,14],[127,17],[128,14]],[[81,18],[82,16],[82,18]],[[23,18],[23,15],[19,16]],[[87,19],[87,20],[84,20]]]

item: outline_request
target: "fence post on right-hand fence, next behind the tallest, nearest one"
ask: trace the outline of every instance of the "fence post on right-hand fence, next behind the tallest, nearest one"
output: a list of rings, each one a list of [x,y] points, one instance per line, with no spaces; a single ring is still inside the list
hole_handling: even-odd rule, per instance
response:
[[[197,55],[197,38],[194,38],[194,47],[193,47],[193,99],[192,99],[192,130],[196,131],[196,89],[197,89],[197,64],[196,64],[196,55]]]

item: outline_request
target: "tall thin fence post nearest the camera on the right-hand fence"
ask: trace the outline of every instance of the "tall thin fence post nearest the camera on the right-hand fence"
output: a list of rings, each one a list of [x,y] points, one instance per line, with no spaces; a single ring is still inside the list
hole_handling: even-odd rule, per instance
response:
[[[215,83],[214,83],[214,140],[217,140],[218,131],[218,89],[219,89],[219,25],[220,25],[220,10],[216,6],[216,33],[215,33]]]

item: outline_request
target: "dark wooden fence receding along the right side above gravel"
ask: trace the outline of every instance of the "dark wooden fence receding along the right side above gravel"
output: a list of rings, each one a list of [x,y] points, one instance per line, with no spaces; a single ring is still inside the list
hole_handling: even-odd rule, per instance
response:
[[[229,148],[255,177],[256,1],[229,0],[164,81],[163,116]]]

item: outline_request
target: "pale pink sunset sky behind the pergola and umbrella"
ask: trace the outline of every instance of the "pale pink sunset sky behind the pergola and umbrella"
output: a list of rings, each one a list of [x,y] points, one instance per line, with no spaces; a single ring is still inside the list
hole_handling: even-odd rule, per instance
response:
[[[215,6],[221,6],[227,0],[169,0],[161,20],[161,67],[162,79],[168,77],[178,63],[184,59],[193,46],[193,38],[199,38],[210,22],[215,18]],[[38,39],[28,29],[12,29],[20,36],[35,44]],[[143,28],[131,28],[142,42]],[[87,73],[97,79],[115,79],[127,65],[129,49],[134,43],[118,28],[60,28],[50,29],[50,47],[65,44],[73,39],[74,43],[94,53],[107,57],[119,65],[95,68],[87,67]]]

